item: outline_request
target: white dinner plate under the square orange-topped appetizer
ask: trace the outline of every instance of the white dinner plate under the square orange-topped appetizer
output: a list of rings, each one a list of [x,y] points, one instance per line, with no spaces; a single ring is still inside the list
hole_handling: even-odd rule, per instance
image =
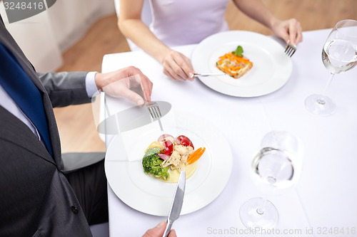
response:
[[[250,31],[225,31],[205,38],[192,54],[197,73],[221,73],[216,68],[220,56],[242,46],[243,55],[253,62],[253,68],[241,78],[229,75],[198,78],[209,88],[236,97],[256,97],[281,88],[291,76],[291,58],[273,38]]]

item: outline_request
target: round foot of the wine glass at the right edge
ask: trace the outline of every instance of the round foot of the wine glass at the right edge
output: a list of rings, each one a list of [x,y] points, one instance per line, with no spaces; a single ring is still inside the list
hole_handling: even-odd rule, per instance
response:
[[[314,115],[328,116],[336,112],[335,103],[325,95],[310,95],[305,100],[305,107]]]

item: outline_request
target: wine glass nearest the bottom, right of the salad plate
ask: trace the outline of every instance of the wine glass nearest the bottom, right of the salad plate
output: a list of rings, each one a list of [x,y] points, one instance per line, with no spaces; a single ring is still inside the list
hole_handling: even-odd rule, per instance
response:
[[[273,131],[265,135],[251,164],[252,177],[261,187],[277,191],[296,183],[301,172],[301,142],[291,133]],[[271,229],[278,222],[276,207],[265,198],[244,202],[241,221],[251,231]]]

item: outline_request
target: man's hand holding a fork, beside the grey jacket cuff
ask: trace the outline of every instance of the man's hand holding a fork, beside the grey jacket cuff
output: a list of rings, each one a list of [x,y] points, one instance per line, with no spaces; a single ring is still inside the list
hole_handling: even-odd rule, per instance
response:
[[[139,68],[133,66],[115,70],[111,73],[97,73],[98,90],[116,98],[127,98],[137,105],[151,101],[153,83]]]

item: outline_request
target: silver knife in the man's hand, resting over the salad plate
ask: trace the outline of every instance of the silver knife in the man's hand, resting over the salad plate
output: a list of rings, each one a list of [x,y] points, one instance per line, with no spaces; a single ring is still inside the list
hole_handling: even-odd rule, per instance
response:
[[[175,194],[174,194],[174,200],[172,201],[171,204],[171,210],[169,213],[169,217],[167,218],[167,225],[166,229],[164,232],[164,235],[162,237],[167,237],[169,236],[169,233],[171,231],[171,226],[174,221],[178,219],[181,213],[181,208],[183,204],[183,196],[185,195],[185,186],[186,186],[186,172],[181,171],[180,177],[178,178]]]

